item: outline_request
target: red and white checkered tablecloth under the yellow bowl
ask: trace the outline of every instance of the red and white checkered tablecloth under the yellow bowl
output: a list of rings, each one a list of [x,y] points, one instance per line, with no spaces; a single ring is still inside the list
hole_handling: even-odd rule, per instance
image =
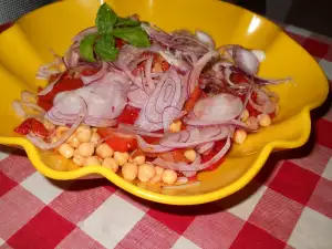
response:
[[[286,30],[332,80],[332,40]],[[104,179],[56,183],[2,148],[0,248],[330,249],[331,108],[314,127],[304,147],[272,155],[245,189],[195,207],[152,204]]]

